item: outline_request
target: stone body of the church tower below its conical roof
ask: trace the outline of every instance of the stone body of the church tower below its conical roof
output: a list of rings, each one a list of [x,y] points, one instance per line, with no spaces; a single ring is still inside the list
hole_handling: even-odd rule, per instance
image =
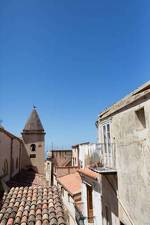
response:
[[[36,172],[44,174],[44,134],[23,133],[22,134],[24,145],[28,154],[27,158],[30,158],[30,163]],[[31,145],[36,145],[36,150],[32,151]],[[33,155],[35,155],[33,158]]]

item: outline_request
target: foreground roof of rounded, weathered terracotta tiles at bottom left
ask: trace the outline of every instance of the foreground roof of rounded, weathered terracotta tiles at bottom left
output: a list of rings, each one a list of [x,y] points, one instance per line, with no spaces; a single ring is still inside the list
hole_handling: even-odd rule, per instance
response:
[[[13,187],[3,197],[1,225],[66,225],[56,186]]]

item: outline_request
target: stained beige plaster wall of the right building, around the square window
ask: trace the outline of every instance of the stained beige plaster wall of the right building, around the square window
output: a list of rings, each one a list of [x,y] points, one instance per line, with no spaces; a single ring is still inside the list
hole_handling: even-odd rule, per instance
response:
[[[146,128],[136,110],[144,107]],[[119,218],[125,224],[148,225],[150,215],[150,100],[140,100],[108,118],[116,143]],[[102,121],[98,127],[102,141]]]

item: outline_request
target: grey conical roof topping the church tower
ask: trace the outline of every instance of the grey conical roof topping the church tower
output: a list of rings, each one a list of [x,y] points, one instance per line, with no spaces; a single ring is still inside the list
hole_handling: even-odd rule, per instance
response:
[[[29,119],[27,120],[23,131],[44,132],[43,125],[35,108],[33,108]]]

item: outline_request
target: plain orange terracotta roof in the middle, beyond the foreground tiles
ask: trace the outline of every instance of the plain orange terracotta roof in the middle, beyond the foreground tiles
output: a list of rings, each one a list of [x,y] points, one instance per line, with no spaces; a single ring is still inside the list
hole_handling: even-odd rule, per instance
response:
[[[72,195],[79,194],[81,192],[81,177],[79,173],[69,174],[63,177],[57,178],[57,181]]]

